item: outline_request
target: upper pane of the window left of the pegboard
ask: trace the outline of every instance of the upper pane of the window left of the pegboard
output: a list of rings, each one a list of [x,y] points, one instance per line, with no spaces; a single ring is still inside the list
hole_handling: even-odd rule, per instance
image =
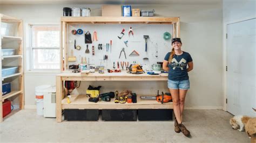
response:
[[[32,47],[59,47],[59,26],[32,26]]]

